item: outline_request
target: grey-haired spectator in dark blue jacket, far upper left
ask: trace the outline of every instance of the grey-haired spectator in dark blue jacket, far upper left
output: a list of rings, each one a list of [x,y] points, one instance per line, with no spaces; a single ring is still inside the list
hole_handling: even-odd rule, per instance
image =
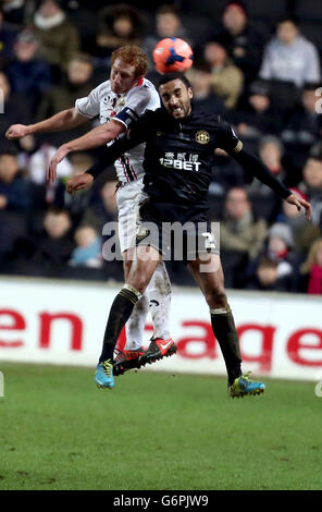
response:
[[[38,57],[39,41],[32,31],[21,32],[13,48],[14,58],[5,69],[11,89],[24,95],[34,112],[41,96],[51,87],[50,66]]]

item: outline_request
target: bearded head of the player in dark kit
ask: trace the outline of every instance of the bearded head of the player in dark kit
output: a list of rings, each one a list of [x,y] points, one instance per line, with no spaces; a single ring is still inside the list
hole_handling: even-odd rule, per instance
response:
[[[191,112],[193,90],[179,80],[160,85],[159,93],[168,112],[174,119],[182,119]]]

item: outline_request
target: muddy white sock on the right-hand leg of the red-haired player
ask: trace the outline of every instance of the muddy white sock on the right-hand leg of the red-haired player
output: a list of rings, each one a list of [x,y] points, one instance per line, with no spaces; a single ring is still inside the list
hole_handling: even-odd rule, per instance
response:
[[[171,282],[163,261],[158,264],[146,290],[153,324],[153,338],[170,338]]]

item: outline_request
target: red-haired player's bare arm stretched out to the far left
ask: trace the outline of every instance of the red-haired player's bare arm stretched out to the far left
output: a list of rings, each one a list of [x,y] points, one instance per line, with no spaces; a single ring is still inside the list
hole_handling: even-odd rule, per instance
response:
[[[35,124],[12,124],[5,133],[9,141],[22,138],[34,133],[63,132],[88,121],[75,108],[62,110],[51,118]]]

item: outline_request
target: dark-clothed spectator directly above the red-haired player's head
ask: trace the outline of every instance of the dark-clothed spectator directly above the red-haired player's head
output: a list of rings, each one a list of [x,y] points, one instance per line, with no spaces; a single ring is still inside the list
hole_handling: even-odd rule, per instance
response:
[[[135,8],[126,3],[108,5],[98,13],[96,53],[106,58],[121,46],[139,45],[141,35],[141,17]]]

